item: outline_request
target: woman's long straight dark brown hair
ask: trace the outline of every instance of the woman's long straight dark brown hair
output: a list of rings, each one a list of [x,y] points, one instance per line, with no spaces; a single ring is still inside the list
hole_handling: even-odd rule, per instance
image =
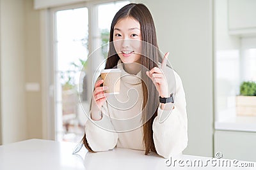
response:
[[[111,42],[113,42],[113,32],[116,23],[118,20],[125,17],[132,17],[140,22],[141,40],[145,42],[142,43],[140,64],[143,66],[141,67],[141,79],[143,80],[142,119],[147,121],[143,124],[143,141],[145,143],[145,155],[147,155],[150,151],[156,152],[152,124],[154,118],[157,116],[159,94],[154,83],[152,83],[145,72],[153,67],[158,67],[157,63],[162,62],[162,58],[160,57],[161,53],[158,50],[156,28],[150,11],[144,4],[131,3],[121,8],[113,18],[109,36],[109,53],[105,69],[116,67],[118,60],[120,59],[115,51],[115,46]],[[152,48],[152,46],[154,48]],[[148,94],[150,94],[150,97],[148,97]],[[86,134],[84,134],[83,143],[90,152],[94,152],[87,143]]]

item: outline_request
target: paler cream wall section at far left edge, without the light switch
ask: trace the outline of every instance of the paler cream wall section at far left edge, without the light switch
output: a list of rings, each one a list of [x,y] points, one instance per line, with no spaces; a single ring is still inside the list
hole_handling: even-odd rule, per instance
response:
[[[26,139],[24,1],[1,0],[1,125],[3,144]]]

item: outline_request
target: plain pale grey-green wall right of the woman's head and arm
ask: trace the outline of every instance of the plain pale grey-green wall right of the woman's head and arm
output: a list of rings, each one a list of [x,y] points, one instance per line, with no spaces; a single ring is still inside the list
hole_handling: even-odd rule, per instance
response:
[[[182,78],[188,110],[185,154],[212,156],[212,0],[143,0],[154,17],[159,48]]]

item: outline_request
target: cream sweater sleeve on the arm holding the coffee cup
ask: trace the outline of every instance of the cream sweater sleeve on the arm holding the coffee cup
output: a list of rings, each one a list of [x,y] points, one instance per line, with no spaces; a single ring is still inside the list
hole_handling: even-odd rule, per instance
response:
[[[115,148],[118,134],[111,123],[106,102],[102,106],[102,119],[95,121],[88,118],[85,124],[85,134],[88,145],[95,152]]]

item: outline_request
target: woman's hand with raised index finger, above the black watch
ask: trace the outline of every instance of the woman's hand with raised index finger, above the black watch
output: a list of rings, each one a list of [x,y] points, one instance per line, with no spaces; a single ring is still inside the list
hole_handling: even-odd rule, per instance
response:
[[[168,83],[164,75],[168,55],[169,52],[164,54],[161,68],[154,67],[150,71],[146,71],[147,76],[153,81],[161,97],[170,97],[170,94],[168,94]]]

